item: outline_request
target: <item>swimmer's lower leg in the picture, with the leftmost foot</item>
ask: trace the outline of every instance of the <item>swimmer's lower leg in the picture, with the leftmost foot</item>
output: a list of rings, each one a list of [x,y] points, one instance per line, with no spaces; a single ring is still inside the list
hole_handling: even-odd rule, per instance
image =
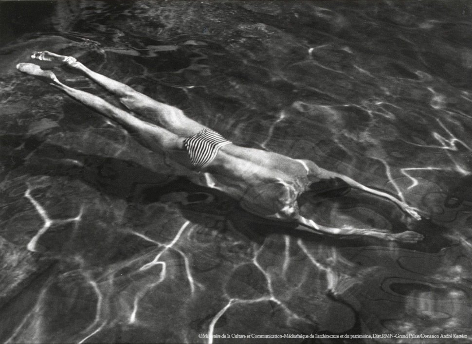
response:
[[[116,108],[105,100],[88,92],[75,90],[61,83],[51,71],[43,71],[39,66],[32,63],[20,63],[17,65],[20,72],[33,75],[46,81],[55,88],[67,93],[73,99],[85,106],[101,113],[102,115],[117,122],[125,128],[132,137],[140,144],[152,151],[166,151],[178,163],[190,167],[190,159],[183,147],[183,138],[151,123],[140,120],[127,111]]]

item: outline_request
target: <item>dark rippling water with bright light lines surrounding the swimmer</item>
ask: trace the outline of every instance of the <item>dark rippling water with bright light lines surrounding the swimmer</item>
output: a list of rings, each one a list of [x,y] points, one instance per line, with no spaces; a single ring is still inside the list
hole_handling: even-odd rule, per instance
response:
[[[471,13],[470,1],[0,3],[1,342],[471,342]],[[15,69],[41,50],[423,216],[327,183],[318,223],[425,239],[301,234],[245,213]],[[282,338],[204,337],[223,334]]]

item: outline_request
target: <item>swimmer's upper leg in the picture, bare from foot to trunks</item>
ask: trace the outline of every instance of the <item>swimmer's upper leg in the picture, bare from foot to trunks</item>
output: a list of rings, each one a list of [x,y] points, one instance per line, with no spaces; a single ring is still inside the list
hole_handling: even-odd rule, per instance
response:
[[[83,72],[87,77],[107,91],[116,94],[120,102],[128,109],[144,116],[150,121],[156,122],[159,126],[166,128],[176,135],[190,137],[206,128],[185,116],[181,109],[158,102],[121,82],[93,72],[72,56],[62,56],[44,51],[35,53],[31,57],[41,61],[64,64]]]

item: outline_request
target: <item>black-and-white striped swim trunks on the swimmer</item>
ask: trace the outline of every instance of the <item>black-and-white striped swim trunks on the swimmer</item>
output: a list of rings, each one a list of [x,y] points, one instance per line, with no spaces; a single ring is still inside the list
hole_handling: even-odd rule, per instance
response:
[[[219,148],[229,144],[230,141],[208,128],[183,141],[194,170],[198,172],[216,158]]]

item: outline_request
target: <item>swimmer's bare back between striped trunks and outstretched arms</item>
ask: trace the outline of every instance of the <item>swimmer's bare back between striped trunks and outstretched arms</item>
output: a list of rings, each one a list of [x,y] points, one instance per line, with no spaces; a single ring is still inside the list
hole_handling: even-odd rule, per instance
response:
[[[238,199],[247,211],[263,217],[290,218],[316,164],[260,149],[227,145],[207,167],[199,184]]]

